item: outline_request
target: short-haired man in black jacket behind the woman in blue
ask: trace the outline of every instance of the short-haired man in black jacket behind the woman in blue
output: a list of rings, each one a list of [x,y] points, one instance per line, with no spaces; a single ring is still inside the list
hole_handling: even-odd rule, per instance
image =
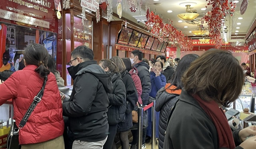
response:
[[[161,61],[163,63],[163,71],[166,82],[170,83],[172,80],[172,76],[174,75],[174,67],[170,67],[170,63],[166,61],[166,57],[164,55],[158,55],[156,57],[156,61]]]

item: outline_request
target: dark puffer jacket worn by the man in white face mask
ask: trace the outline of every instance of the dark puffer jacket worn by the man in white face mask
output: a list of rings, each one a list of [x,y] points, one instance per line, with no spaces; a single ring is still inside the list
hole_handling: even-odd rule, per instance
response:
[[[134,65],[138,70],[138,76],[140,77],[140,82],[142,85],[142,94],[141,99],[143,105],[150,104],[149,103],[149,93],[151,92],[151,82],[150,82],[150,73],[149,73],[149,66],[144,61],[137,63]]]

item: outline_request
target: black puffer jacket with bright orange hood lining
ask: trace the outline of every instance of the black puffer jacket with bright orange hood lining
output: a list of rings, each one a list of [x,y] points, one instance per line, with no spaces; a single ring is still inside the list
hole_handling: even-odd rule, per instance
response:
[[[166,84],[166,88],[169,86],[170,84]],[[169,88],[165,90],[165,87],[161,88],[156,94],[156,111],[157,112],[160,111],[159,125],[158,125],[158,129],[159,129],[158,149],[162,149],[164,147],[164,137],[167,129],[167,121],[171,113],[172,107],[177,102],[179,96],[180,96],[180,90],[172,91]]]

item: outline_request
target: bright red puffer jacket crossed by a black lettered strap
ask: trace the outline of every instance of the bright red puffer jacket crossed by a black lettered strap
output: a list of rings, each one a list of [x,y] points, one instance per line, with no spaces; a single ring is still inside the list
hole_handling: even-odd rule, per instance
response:
[[[28,65],[16,71],[4,83],[0,84],[0,105],[12,98],[14,119],[20,124],[34,97],[41,90],[43,78]],[[42,100],[30,115],[26,125],[20,129],[20,144],[32,144],[59,137],[64,132],[62,103],[54,74],[48,75]]]

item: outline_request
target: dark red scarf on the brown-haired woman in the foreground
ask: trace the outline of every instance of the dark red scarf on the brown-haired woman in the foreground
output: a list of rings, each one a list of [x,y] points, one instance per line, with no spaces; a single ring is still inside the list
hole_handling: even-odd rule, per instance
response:
[[[228,120],[222,108],[219,108],[218,104],[211,100],[210,102],[205,102],[197,94],[193,95],[200,106],[204,109],[206,114],[212,119],[218,133],[219,144],[218,147],[226,147],[228,149],[234,149],[236,147],[232,131],[228,125]]]

